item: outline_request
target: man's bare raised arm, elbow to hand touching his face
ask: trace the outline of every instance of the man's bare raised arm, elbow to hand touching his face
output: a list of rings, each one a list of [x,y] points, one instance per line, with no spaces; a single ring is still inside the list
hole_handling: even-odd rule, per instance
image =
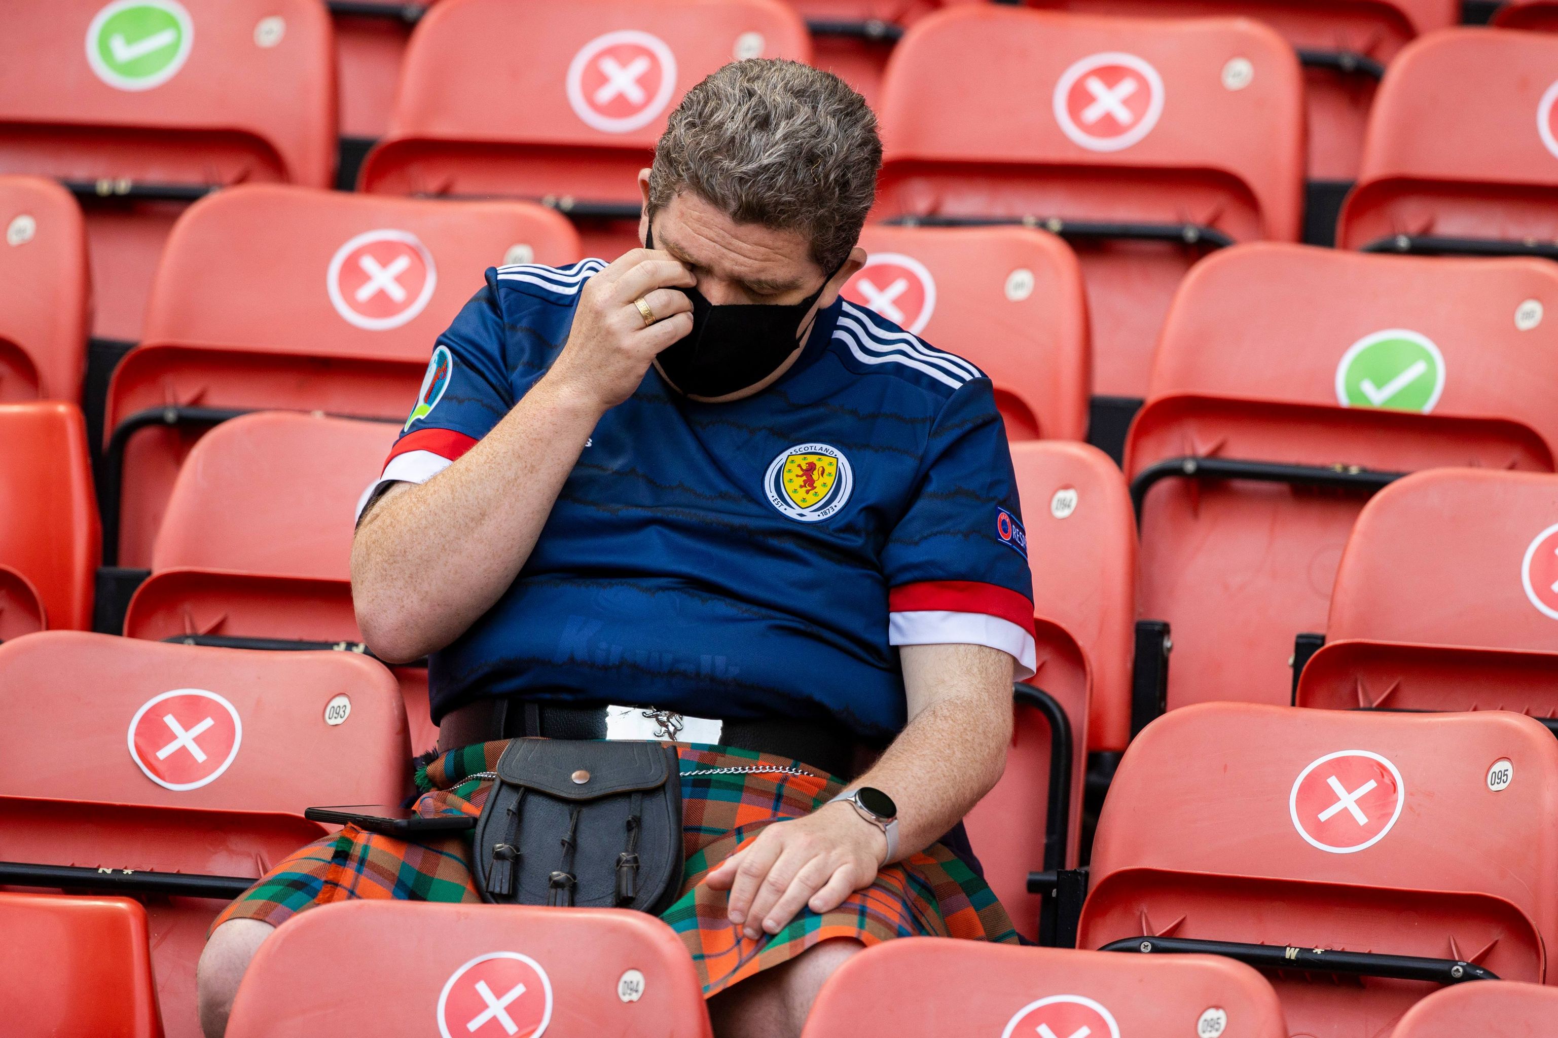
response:
[[[665,252],[634,249],[580,293],[552,369],[460,460],[400,483],[352,541],[352,602],[363,639],[390,662],[442,648],[502,597],[536,547],[584,441],[643,380],[654,355],[692,330],[676,285],[696,279]],[[645,327],[633,301],[661,318]]]

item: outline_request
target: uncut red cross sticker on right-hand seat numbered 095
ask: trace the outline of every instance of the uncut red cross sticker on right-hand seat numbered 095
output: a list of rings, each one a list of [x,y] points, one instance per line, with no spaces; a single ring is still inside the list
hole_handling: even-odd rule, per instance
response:
[[[1331,854],[1379,843],[1401,817],[1405,787],[1396,765],[1368,750],[1327,753],[1298,773],[1288,814],[1298,835]]]

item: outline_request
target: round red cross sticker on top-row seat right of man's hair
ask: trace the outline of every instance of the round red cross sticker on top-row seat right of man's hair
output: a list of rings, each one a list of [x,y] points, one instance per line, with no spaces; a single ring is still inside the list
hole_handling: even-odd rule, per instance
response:
[[[1164,111],[1158,70],[1119,51],[1072,64],[1055,83],[1055,122],[1089,151],[1120,151],[1151,132]]]

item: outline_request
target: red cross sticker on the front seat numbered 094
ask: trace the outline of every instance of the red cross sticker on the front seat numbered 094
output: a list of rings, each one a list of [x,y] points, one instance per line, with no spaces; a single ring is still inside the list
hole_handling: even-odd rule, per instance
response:
[[[530,955],[477,955],[444,982],[438,1033],[444,1038],[541,1038],[552,1022],[552,980]]]

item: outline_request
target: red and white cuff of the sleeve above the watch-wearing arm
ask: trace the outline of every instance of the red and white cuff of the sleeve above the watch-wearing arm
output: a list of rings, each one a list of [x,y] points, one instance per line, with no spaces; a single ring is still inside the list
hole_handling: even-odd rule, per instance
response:
[[[1033,603],[1010,588],[972,580],[904,584],[888,592],[890,645],[986,645],[1017,661],[1017,681],[1036,670]]]

